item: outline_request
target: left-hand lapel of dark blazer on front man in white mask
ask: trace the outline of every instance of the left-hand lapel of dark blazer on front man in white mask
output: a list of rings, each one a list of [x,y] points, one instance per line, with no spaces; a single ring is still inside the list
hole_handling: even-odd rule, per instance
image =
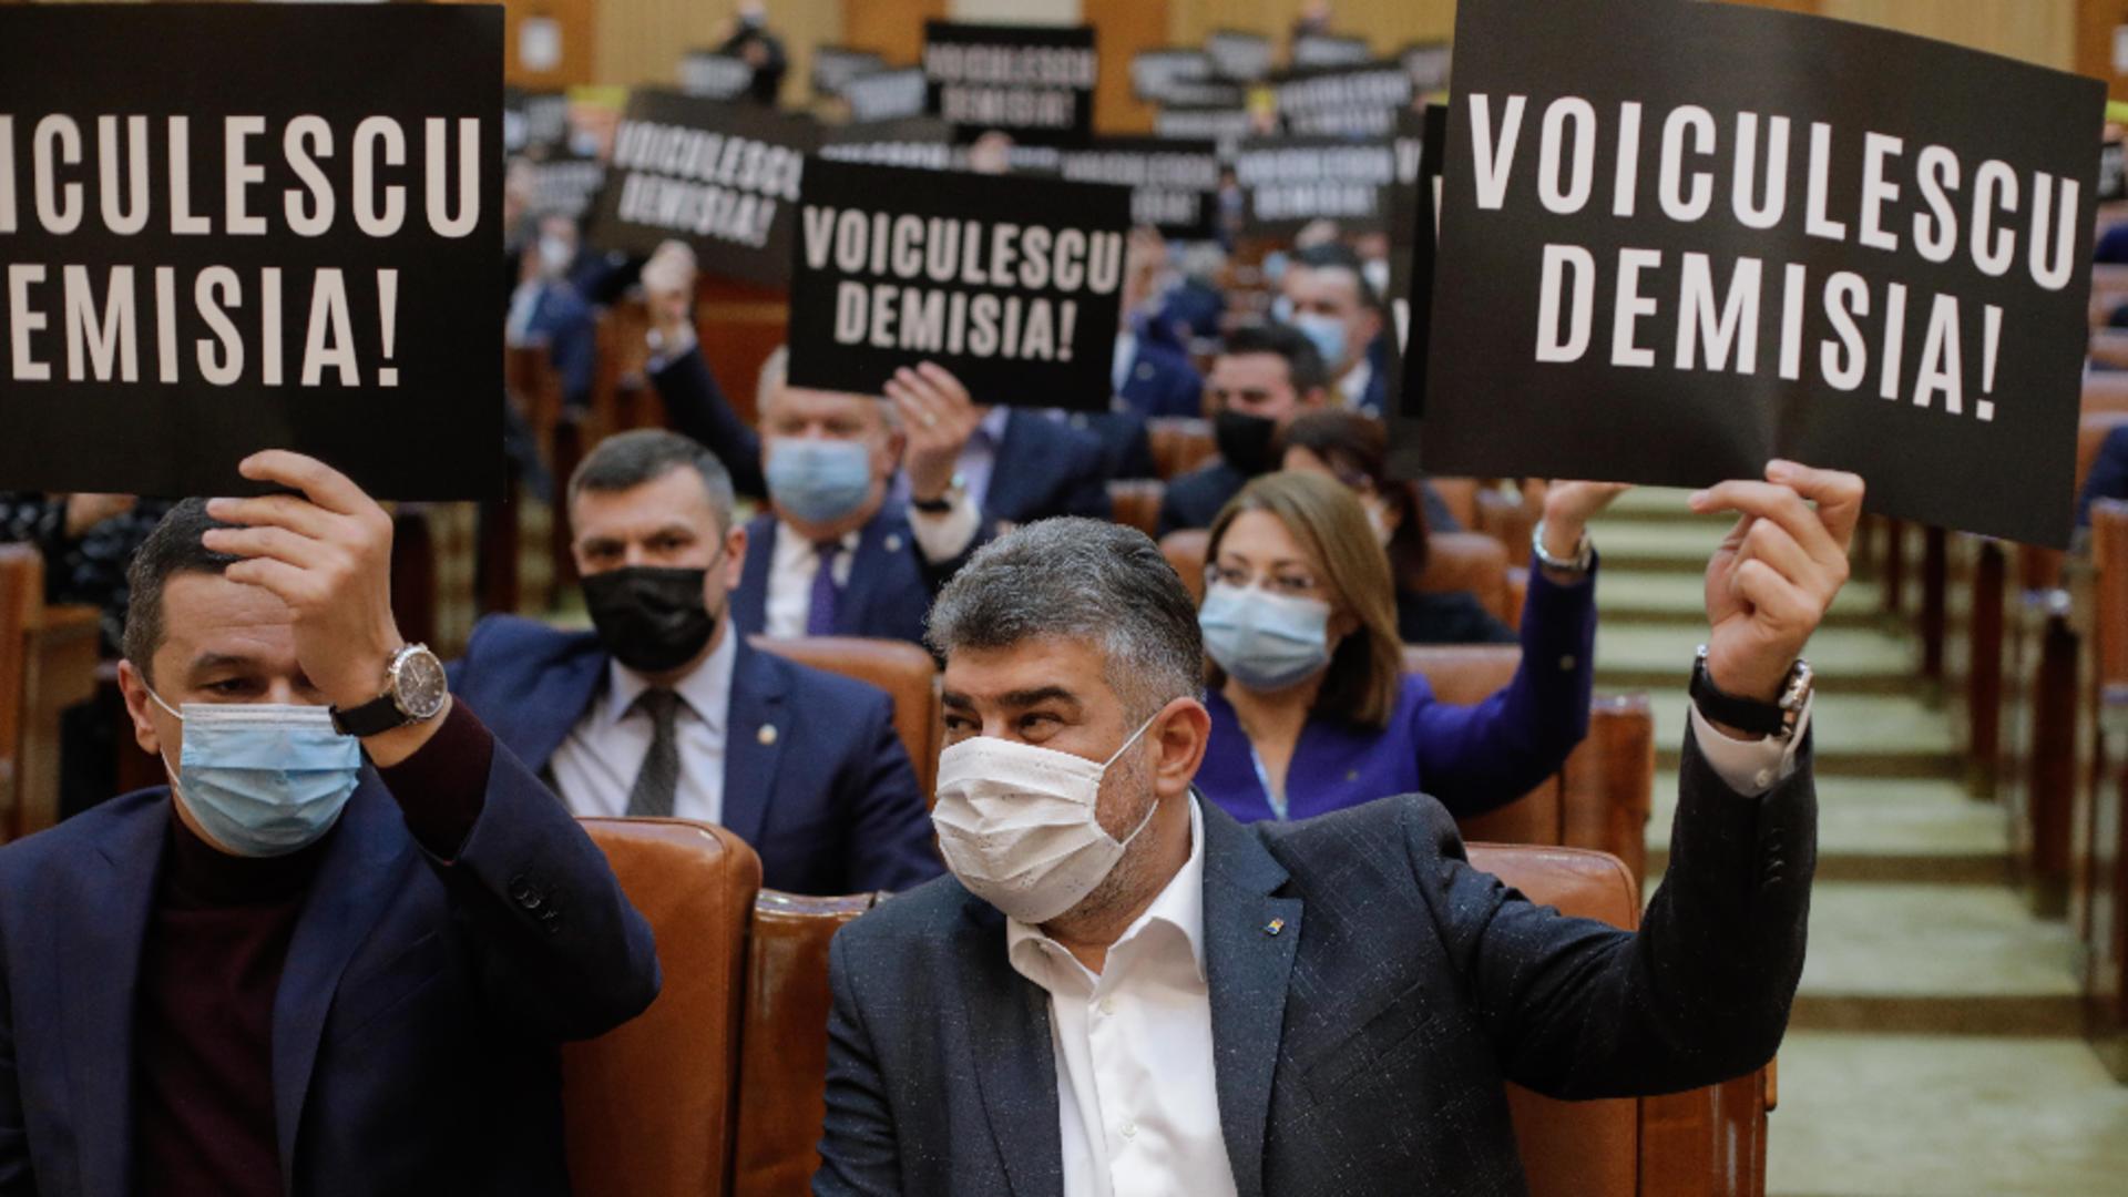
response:
[[[958,929],[968,984],[968,1059],[1015,1197],[1062,1197],[1064,1139],[1058,1127],[1058,1061],[1049,995],[1013,971],[1004,916],[970,895]]]

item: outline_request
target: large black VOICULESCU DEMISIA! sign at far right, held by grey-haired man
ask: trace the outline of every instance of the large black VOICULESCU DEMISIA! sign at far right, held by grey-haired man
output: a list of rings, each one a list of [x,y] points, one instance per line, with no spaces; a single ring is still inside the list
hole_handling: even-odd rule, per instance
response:
[[[1705,486],[1781,456],[2066,543],[2102,102],[1792,13],[1464,0],[1428,469]]]

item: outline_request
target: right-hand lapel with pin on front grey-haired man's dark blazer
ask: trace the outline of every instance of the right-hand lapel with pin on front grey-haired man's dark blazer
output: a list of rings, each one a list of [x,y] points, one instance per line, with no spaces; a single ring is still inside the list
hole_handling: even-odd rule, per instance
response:
[[[1285,990],[1300,948],[1300,899],[1270,897],[1285,867],[1215,803],[1204,811],[1204,973],[1219,1129],[1238,1197],[1264,1193],[1264,1122],[1279,1067]]]

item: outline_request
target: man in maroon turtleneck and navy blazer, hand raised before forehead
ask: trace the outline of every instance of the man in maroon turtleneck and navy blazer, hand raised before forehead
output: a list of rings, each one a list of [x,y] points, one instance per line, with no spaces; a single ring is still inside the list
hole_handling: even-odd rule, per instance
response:
[[[651,931],[400,641],[392,518],[243,473],[300,496],[179,503],[130,571],[174,788],[0,848],[0,1193],[566,1195],[558,1044],[651,1003]]]

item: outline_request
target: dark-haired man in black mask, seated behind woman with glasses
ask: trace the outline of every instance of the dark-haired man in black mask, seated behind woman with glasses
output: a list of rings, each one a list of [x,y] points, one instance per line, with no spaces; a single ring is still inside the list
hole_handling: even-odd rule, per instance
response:
[[[1328,386],[1321,354],[1298,328],[1256,324],[1228,334],[1204,379],[1219,456],[1168,481],[1160,535],[1209,528],[1251,477],[1279,469],[1273,458],[1279,432],[1321,409]]]

